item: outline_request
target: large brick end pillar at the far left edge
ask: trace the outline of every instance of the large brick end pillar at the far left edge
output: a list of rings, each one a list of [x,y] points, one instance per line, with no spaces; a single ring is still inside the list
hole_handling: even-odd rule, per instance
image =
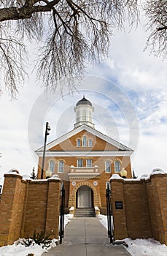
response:
[[[4,175],[1,195],[0,246],[12,244],[20,237],[26,181],[18,174]]]

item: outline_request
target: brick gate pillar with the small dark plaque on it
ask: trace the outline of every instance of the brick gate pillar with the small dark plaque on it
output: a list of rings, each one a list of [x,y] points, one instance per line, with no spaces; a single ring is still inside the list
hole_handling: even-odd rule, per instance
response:
[[[123,193],[123,179],[111,180],[112,213],[114,220],[114,240],[128,237],[125,217],[125,199]],[[115,202],[123,202],[123,209],[116,209]]]

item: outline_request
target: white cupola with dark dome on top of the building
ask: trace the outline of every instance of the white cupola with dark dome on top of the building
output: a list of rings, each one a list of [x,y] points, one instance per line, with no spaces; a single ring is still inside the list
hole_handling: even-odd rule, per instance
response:
[[[87,124],[89,127],[94,128],[95,125],[92,122],[93,110],[92,103],[83,96],[74,108],[76,113],[76,123],[74,124],[74,128],[80,127],[82,124]]]

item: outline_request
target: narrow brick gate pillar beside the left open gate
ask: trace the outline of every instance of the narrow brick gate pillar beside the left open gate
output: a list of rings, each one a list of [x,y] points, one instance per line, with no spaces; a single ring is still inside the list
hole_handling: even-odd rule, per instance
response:
[[[48,179],[47,217],[45,233],[58,238],[59,212],[61,206],[61,180]]]

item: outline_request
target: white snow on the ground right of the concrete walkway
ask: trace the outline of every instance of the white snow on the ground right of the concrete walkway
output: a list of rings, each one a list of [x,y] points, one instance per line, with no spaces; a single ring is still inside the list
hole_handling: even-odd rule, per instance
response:
[[[107,217],[100,215],[100,222],[107,229]],[[152,238],[149,239],[135,239],[125,238],[125,243],[128,244],[127,251],[131,253],[132,256],[167,256],[167,246],[165,244],[160,244]]]

